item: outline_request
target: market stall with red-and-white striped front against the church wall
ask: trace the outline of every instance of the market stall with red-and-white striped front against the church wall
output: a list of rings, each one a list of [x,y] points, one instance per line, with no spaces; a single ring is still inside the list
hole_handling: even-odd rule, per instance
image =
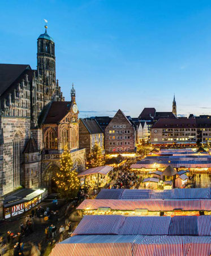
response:
[[[38,203],[41,203],[46,197],[48,197],[48,190],[46,189],[20,189],[5,197],[3,201],[3,217],[8,219],[23,214]]]

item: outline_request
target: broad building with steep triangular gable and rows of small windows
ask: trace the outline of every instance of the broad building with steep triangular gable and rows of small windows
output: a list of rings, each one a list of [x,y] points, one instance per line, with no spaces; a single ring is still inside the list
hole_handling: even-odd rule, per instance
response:
[[[135,126],[120,109],[106,126],[104,136],[105,152],[135,151]]]

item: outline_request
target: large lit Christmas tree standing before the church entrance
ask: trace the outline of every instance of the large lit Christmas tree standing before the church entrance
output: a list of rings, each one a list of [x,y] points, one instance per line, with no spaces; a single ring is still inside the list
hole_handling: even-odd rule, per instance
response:
[[[74,169],[71,154],[67,146],[64,147],[60,164],[61,168],[53,177],[55,184],[57,184],[58,193],[63,198],[75,198],[79,191],[80,181],[77,178],[77,172]]]

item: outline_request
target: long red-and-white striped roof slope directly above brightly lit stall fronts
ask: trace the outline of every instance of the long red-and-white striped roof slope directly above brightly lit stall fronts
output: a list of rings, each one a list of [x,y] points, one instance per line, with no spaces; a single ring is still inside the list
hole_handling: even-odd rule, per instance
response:
[[[115,199],[85,199],[77,210],[98,210],[98,208],[110,208],[111,210],[134,211],[136,209],[147,209],[148,211],[183,211],[208,210],[201,207],[201,200],[115,200]],[[209,208],[211,210],[211,208]]]

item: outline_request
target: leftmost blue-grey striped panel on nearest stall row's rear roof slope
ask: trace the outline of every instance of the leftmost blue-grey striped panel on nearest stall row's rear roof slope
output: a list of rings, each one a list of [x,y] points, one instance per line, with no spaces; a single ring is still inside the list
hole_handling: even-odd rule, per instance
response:
[[[72,234],[118,234],[124,219],[121,215],[87,215]]]

